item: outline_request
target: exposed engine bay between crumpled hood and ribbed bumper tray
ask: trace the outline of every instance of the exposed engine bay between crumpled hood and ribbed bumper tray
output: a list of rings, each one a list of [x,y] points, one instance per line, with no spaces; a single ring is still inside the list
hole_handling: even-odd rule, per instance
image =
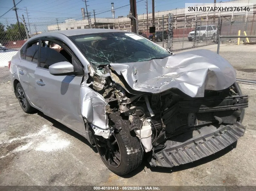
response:
[[[153,150],[153,154],[168,148],[167,140],[186,132],[210,127],[216,134],[220,127],[237,124],[248,107],[248,96],[241,95],[236,83],[224,90],[205,90],[204,97],[190,97],[178,88],[152,94],[129,89],[109,65],[96,69],[89,66],[89,71],[88,87],[105,99],[106,113],[120,112],[130,124],[130,131],[141,140],[144,151]],[[99,128],[96,126],[96,130]],[[108,128],[111,134],[114,129]],[[158,166],[154,162],[151,165]]]

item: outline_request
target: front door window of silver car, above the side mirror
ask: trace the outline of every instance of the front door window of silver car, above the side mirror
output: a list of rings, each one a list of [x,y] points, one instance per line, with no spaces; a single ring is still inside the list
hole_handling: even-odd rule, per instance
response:
[[[58,44],[52,41],[41,41],[40,67],[49,68],[57,62],[72,62],[71,56]]]

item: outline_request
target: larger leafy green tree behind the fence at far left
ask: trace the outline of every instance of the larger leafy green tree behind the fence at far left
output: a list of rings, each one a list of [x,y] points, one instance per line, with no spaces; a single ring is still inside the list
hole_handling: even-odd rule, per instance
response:
[[[22,22],[20,22],[20,29],[18,27],[18,22],[16,24],[7,25],[6,37],[8,40],[24,40],[27,36]]]

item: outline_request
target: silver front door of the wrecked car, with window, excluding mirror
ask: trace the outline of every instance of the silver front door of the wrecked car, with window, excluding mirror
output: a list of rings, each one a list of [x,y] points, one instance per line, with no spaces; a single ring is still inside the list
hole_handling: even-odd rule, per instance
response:
[[[75,71],[82,70],[82,66],[77,67],[79,62],[74,54],[63,48],[61,54],[58,52],[58,46],[51,47],[51,43],[51,40],[41,40],[40,63],[35,71],[37,102],[45,115],[71,129],[85,133],[80,107],[80,84],[83,75],[52,75],[48,70],[49,65],[63,61],[75,64]]]

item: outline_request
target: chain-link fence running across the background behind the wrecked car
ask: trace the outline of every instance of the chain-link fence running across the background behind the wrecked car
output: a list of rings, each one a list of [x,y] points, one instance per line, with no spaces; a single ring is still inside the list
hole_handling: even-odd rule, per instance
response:
[[[244,32],[247,35],[255,35],[254,16],[255,14],[200,18],[195,15],[159,15],[156,13],[154,21],[152,17],[143,14],[138,15],[137,19],[133,17],[132,20],[126,17],[91,18],[90,20],[54,19],[26,24],[23,19],[20,23],[7,26],[0,23],[0,82],[9,79],[7,66],[12,56],[28,38],[40,33],[91,27],[135,31],[139,35],[153,40],[149,28],[155,26],[155,43],[171,51],[177,51],[217,43],[219,35],[237,35],[238,30],[241,31],[241,35],[244,35]],[[237,38],[226,40],[237,42]],[[240,40],[246,42],[246,39]],[[251,38],[249,41],[256,41],[256,39]]]

